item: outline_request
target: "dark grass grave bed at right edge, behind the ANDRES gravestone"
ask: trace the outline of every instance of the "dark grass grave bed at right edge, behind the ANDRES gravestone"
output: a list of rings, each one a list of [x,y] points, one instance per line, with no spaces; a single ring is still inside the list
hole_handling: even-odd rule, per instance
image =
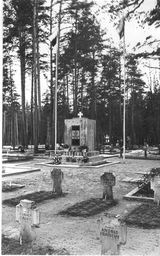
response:
[[[160,205],[142,204],[125,216],[127,225],[142,228],[160,228]]]

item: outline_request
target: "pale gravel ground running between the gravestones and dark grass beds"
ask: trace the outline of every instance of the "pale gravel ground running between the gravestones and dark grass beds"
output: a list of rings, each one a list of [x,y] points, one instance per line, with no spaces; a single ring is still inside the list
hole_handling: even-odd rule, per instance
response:
[[[25,188],[12,193],[3,193],[3,200],[25,193],[43,189],[52,191],[50,171],[52,166],[36,165],[48,159],[35,159],[22,166],[38,167],[40,172],[19,174],[3,177],[3,181],[19,182]],[[40,228],[36,228],[36,241],[40,244],[50,244],[54,248],[65,248],[70,255],[100,255],[101,243],[96,239],[96,220],[101,216],[97,214],[89,218],[60,216],[57,213],[77,202],[83,202],[92,197],[102,197],[100,175],[104,172],[113,172],[116,176],[116,185],[113,187],[114,199],[118,204],[109,209],[112,214],[120,217],[128,214],[134,207],[141,204],[138,201],[123,200],[123,196],[136,188],[136,184],[122,182],[126,177],[141,177],[137,172],[149,172],[151,168],[160,167],[159,160],[136,160],[111,158],[111,161],[120,161],[118,164],[100,168],[64,168],[62,184],[65,197],[57,200],[48,200],[39,204]],[[19,236],[19,223],[15,221],[15,208],[3,205],[2,207],[2,233]],[[138,227],[127,227],[127,243],[121,246],[121,255],[160,255],[160,230],[145,230]]]

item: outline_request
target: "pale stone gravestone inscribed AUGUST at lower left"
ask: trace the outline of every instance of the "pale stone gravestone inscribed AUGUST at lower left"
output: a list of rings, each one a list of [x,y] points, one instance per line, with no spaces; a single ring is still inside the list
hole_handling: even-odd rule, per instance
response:
[[[16,221],[20,223],[20,239],[26,242],[35,240],[35,225],[40,223],[40,214],[34,201],[20,200],[16,205]]]

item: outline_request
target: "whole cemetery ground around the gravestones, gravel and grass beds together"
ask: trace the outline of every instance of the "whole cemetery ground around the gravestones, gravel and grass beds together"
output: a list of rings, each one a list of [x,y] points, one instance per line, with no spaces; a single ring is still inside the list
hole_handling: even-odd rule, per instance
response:
[[[100,168],[61,167],[64,175],[61,196],[52,193],[50,175],[51,170],[59,166],[38,165],[40,172],[3,177],[1,253],[100,255],[102,245],[96,239],[97,219],[102,213],[108,212],[120,214],[120,218],[127,223],[127,243],[121,246],[121,255],[159,255],[160,206],[154,202],[124,200],[124,195],[136,188],[137,184],[122,181],[127,177],[140,178],[141,173],[159,168],[159,159],[125,159],[123,163],[123,159],[112,157],[111,161],[120,163]],[[48,162],[48,159],[33,159],[16,164],[35,168],[36,164],[44,162]],[[102,200],[100,176],[104,172],[115,173],[116,177],[114,200],[111,201]],[[25,187],[10,191],[10,182]],[[35,241],[22,241],[20,244],[20,225],[15,221],[15,205],[24,198],[34,200],[40,209],[40,225],[36,226]]]

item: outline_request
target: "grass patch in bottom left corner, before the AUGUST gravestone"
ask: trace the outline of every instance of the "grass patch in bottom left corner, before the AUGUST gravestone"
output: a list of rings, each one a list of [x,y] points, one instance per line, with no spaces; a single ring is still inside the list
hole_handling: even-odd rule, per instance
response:
[[[35,241],[26,243],[13,238],[2,235],[1,239],[2,255],[70,255],[65,248],[54,250],[52,246],[42,246]]]

